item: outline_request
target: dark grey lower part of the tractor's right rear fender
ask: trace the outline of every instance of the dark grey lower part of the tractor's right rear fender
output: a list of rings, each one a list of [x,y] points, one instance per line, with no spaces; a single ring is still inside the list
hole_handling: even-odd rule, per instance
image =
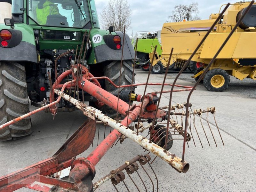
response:
[[[124,33],[121,31],[116,31],[116,35],[119,35],[123,41]],[[123,60],[133,60],[135,57],[135,52],[130,41],[130,37],[125,34],[124,42]],[[123,47],[122,47],[123,48]],[[95,58],[97,63],[101,63],[108,60],[121,60],[122,58],[122,49],[114,50],[108,47],[107,44],[101,44],[97,47],[94,47]]]

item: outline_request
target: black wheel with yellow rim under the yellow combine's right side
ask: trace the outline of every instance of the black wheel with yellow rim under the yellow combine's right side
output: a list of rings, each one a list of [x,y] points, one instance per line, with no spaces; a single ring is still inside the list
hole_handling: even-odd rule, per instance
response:
[[[230,77],[223,69],[212,69],[204,76],[204,87],[208,91],[221,92],[228,88]]]

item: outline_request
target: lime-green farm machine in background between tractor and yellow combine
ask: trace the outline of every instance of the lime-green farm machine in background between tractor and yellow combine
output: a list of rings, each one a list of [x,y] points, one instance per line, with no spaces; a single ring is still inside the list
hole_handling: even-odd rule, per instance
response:
[[[132,37],[131,42],[134,47],[136,47],[136,39],[138,38],[137,44],[137,57],[138,61],[136,63],[136,68],[141,68],[143,71],[148,71],[150,66],[149,53],[153,52],[155,46],[157,45],[157,52],[161,56],[161,31],[140,31],[136,32],[135,36]],[[152,73],[157,72],[158,68],[153,67]]]

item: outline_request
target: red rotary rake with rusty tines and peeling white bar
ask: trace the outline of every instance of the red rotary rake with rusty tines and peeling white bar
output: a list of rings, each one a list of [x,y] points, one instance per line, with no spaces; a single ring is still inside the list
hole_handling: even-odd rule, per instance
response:
[[[248,6],[247,12],[253,3],[254,1],[252,1],[251,4]],[[220,13],[218,19],[215,21],[215,23],[209,29],[207,34],[204,36],[202,42],[197,46],[196,50],[194,51],[194,54],[203,44],[206,37],[212,32],[212,29],[215,27],[216,23],[221,19],[223,13],[227,10],[228,6],[229,4],[225,7],[222,13]],[[244,13],[243,16],[245,16],[245,14],[246,12]],[[237,22],[237,26],[240,24],[242,19],[243,17],[241,17],[241,19]],[[227,43],[230,36],[235,32],[237,26],[233,28],[232,32],[230,33],[226,41],[223,43],[223,45],[220,47],[219,51],[216,53],[215,57],[212,59],[208,67],[211,66],[212,62],[215,60],[216,56],[220,53],[224,45]],[[81,47],[83,47],[83,45]],[[70,50],[69,52],[74,52],[74,50]],[[66,53],[64,53],[63,55],[65,54]],[[191,58],[193,57],[194,54],[192,54]],[[60,57],[63,55],[60,55]],[[126,174],[129,176],[130,180],[137,188],[137,190],[140,191],[139,188],[141,186],[138,186],[132,177],[132,174],[136,172],[135,174],[137,174],[140,177],[140,180],[143,184],[142,187],[144,187],[145,191],[147,191],[147,186],[145,184],[146,182],[144,182],[143,178],[140,176],[138,172],[139,164],[142,167],[142,169],[146,172],[150,180],[149,183],[152,184],[153,191],[155,190],[155,188],[158,191],[157,176],[151,166],[154,160],[151,161],[151,157],[149,156],[149,154],[153,154],[156,157],[160,157],[162,160],[167,162],[169,165],[171,165],[171,167],[173,167],[178,172],[186,173],[189,169],[189,164],[184,160],[186,144],[188,145],[188,143],[191,142],[192,140],[194,142],[194,145],[196,146],[195,140],[196,138],[198,138],[200,144],[203,147],[203,144],[199,136],[199,133],[202,130],[202,133],[205,135],[209,143],[209,135],[207,136],[205,125],[203,125],[201,120],[202,115],[204,113],[207,114],[206,120],[208,124],[206,126],[209,127],[209,130],[212,135],[211,137],[213,138],[217,146],[213,130],[208,121],[209,113],[214,114],[215,120],[215,108],[211,107],[206,108],[205,110],[192,110],[192,105],[189,103],[189,99],[192,92],[196,89],[196,86],[199,84],[204,74],[207,72],[207,69],[204,71],[204,74],[200,76],[194,87],[176,85],[178,77],[184,71],[184,69],[187,68],[191,58],[183,66],[183,68],[175,78],[173,84],[165,83],[168,71],[166,71],[165,73],[164,81],[162,84],[148,83],[150,72],[152,69],[151,66],[148,73],[147,82],[145,84],[121,85],[120,79],[119,85],[116,85],[108,77],[92,76],[92,74],[89,73],[88,68],[83,65],[83,59],[81,59],[82,54],[79,53],[79,55],[80,58],[78,57],[78,59],[76,60],[77,62],[74,62],[74,64],[71,65],[71,69],[64,72],[58,78],[56,78],[56,82],[51,87],[50,104],[46,104],[45,101],[42,104],[43,107],[38,108],[35,111],[32,111],[24,116],[20,116],[10,122],[1,125],[0,129],[3,129],[6,126],[9,126],[39,111],[50,110],[51,113],[55,115],[57,113],[56,104],[60,102],[61,99],[68,100],[70,103],[75,105],[76,108],[83,111],[83,114],[87,116],[88,119],[76,130],[76,132],[63,144],[63,146],[52,157],[1,177],[0,191],[14,191],[23,187],[42,192],[93,191],[99,188],[101,184],[103,184],[109,179],[111,179],[117,191],[117,185],[120,182],[123,182],[125,188],[128,191],[130,191],[129,186],[124,181],[124,170],[126,171]],[[170,58],[171,56],[172,52],[170,54]],[[167,68],[168,67],[169,66],[167,66]],[[122,62],[120,66],[120,73],[121,71]],[[72,75],[73,77],[72,80],[65,84],[61,84],[61,81],[66,76],[70,75]],[[119,88],[118,94],[115,96],[102,89],[100,83],[98,82],[98,79],[105,79],[105,81],[109,81],[113,86]],[[134,82],[134,79],[132,79],[132,82]],[[144,94],[135,94],[133,92],[133,88],[140,85],[145,85]],[[160,92],[151,92],[146,94],[148,85],[161,85],[162,89]],[[164,86],[171,86],[171,90],[164,91]],[[130,87],[131,90],[120,91],[120,88],[122,87]],[[180,87],[182,89],[174,90],[174,87]],[[173,92],[180,91],[190,91],[187,102],[172,105]],[[82,92],[82,98],[80,99],[79,92]],[[100,110],[86,105],[83,102],[84,92],[96,98],[98,100],[98,104],[104,104],[114,109],[117,112],[116,120],[103,114]],[[165,107],[159,107],[162,94],[168,92],[170,93],[169,105]],[[73,94],[72,96],[71,93]],[[157,94],[159,93],[160,95],[158,97]],[[58,99],[55,101],[54,94],[59,96]],[[75,99],[75,94],[77,94],[77,99]],[[133,101],[139,103],[132,104]],[[118,118],[118,116],[120,115],[123,117],[123,120]],[[195,122],[196,116],[200,117],[200,123],[203,129],[198,129],[198,125]],[[76,158],[77,155],[81,154],[92,145],[96,132],[96,124],[105,124],[110,126],[111,128],[114,128],[114,130],[110,132],[106,137],[104,133],[104,140],[100,142],[100,144],[98,144],[98,146],[86,158]],[[215,125],[215,127],[220,133],[217,124]],[[148,135],[142,136],[140,133],[145,131],[146,129],[148,129]],[[141,147],[143,147],[145,149],[145,152],[147,151],[147,154],[139,154],[138,156],[135,156],[134,158],[132,158],[129,161],[126,161],[122,166],[115,170],[112,170],[108,175],[106,175],[105,177],[103,177],[102,179],[93,184],[92,180],[95,176],[95,165],[115,144],[117,140],[122,143],[126,138],[131,139],[132,141],[136,142]],[[183,142],[182,158],[179,158],[175,154],[169,152],[169,150],[172,148],[173,140],[181,140]],[[144,166],[146,165],[152,169],[152,173],[148,173],[146,171],[146,169],[144,168]],[[68,176],[60,178],[60,172],[67,168],[70,169]],[[152,180],[152,178],[156,179],[156,183]]]

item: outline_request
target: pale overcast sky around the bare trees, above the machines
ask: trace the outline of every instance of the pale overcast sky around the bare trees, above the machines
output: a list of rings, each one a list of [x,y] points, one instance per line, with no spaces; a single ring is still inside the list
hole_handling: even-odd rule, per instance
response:
[[[218,13],[222,4],[235,3],[237,0],[128,0],[132,9],[132,25],[127,31],[129,36],[135,35],[136,31],[158,31],[162,29],[163,23],[166,22],[168,16],[172,14],[172,10],[177,4],[190,4],[197,2],[199,8],[199,17],[208,19],[211,13]],[[100,12],[108,3],[108,0],[95,0],[97,12],[100,19]]]

